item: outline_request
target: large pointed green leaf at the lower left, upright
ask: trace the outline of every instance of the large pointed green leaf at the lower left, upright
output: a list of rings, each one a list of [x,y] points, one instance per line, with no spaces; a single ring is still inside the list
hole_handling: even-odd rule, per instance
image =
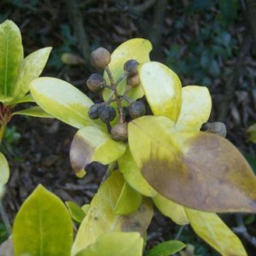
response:
[[[38,185],[15,218],[15,256],[69,256],[73,223],[67,208],[54,194]]]

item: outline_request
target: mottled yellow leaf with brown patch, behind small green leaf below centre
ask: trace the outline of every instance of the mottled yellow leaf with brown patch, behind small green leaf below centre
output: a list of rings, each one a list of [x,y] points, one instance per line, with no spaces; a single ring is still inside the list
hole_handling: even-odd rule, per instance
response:
[[[143,235],[147,230],[153,217],[153,208],[149,201],[143,201],[136,212],[125,217],[113,213],[124,182],[121,173],[115,171],[102,183],[90,202],[89,211],[79,226],[78,234],[73,243],[72,255],[94,243],[104,233],[135,231]]]

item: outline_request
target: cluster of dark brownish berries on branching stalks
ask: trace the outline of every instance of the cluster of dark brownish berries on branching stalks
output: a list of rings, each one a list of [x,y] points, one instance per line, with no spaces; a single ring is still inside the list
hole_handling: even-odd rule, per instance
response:
[[[94,50],[90,55],[90,61],[92,66],[96,68],[103,68],[108,74],[109,84],[99,73],[93,73],[90,75],[86,84],[90,91],[100,93],[104,88],[112,90],[111,96],[108,101],[102,103],[96,103],[92,105],[88,111],[90,119],[101,119],[103,123],[108,125],[109,131],[115,140],[125,141],[127,140],[127,121],[130,119],[137,119],[145,115],[146,108],[142,101],[133,102],[127,94],[132,88],[137,87],[140,84],[140,79],[137,73],[137,67],[139,63],[136,60],[126,61],[124,64],[124,73],[117,79],[113,80],[112,73],[108,67],[111,61],[111,55],[108,49],[102,47]],[[119,95],[117,87],[119,83],[126,79],[127,88],[122,95]],[[122,102],[127,101],[130,105],[127,108],[123,107]],[[112,102],[116,102],[117,110],[110,106]],[[118,112],[118,113],[117,113]],[[111,127],[110,122],[115,119],[118,114],[118,122]]]

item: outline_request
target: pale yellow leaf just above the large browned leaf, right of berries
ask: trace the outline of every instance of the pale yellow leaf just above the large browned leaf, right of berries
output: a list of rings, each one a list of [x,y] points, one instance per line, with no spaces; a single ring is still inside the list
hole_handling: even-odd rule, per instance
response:
[[[175,128],[178,131],[199,131],[209,119],[212,98],[207,87],[189,85],[183,87],[181,113]]]

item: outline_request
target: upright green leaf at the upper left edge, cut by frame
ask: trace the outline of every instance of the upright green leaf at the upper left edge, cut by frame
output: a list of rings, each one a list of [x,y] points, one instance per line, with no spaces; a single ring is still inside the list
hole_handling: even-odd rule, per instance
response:
[[[20,61],[23,59],[20,29],[11,20],[0,25],[0,102],[9,102]]]

